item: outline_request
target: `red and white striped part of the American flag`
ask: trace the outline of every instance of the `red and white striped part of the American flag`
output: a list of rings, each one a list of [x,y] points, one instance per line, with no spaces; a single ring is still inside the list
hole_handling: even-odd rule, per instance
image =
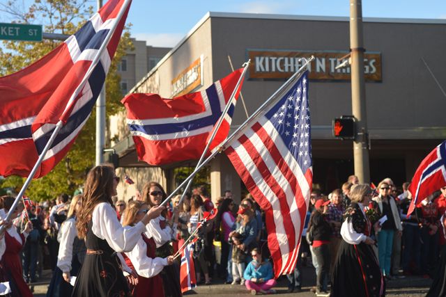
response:
[[[265,117],[226,149],[254,199],[266,211],[268,246],[276,278],[294,270],[312,186],[279,132]]]

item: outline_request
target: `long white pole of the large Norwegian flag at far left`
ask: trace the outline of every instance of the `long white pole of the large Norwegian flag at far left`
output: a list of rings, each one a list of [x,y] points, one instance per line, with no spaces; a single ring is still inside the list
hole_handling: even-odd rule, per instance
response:
[[[107,47],[116,27],[118,26],[119,22],[121,21],[123,15],[125,13],[125,10],[127,10],[127,8],[128,8],[129,3],[130,3],[130,0],[124,1],[123,6],[121,7],[121,10],[119,11],[118,16],[116,17],[116,19],[118,19],[118,21],[113,24],[112,29],[110,29],[109,33],[105,37],[104,42],[102,43],[102,45],[100,46],[100,48],[98,50],[98,55],[95,56],[95,58],[93,59],[93,62],[91,63],[91,65],[89,67],[89,70],[87,70],[81,83],[79,83],[75,92],[70,97],[70,100],[68,101],[66,109],[65,109],[65,111],[63,111],[61,118],[64,117],[65,113],[67,112],[67,107],[70,105],[72,100],[79,94],[80,90],[82,90],[82,88],[84,88],[84,86],[83,86],[84,83],[89,78],[91,72],[93,72],[94,67],[99,63],[100,56],[102,55],[102,51],[104,51],[105,47]],[[28,188],[34,175],[36,175],[36,172],[37,172],[38,168],[40,167],[40,164],[43,162],[43,159],[45,158],[45,155],[47,154],[49,147],[51,147],[51,145],[53,144],[54,139],[56,138],[57,134],[59,134],[59,131],[62,129],[64,124],[65,124],[65,122],[63,122],[63,120],[59,120],[59,122],[57,122],[56,127],[54,128],[54,131],[53,131],[51,137],[49,137],[47,144],[43,148],[43,152],[39,155],[39,158],[36,161],[36,164],[34,164],[33,169],[29,173],[29,176],[26,178],[26,181],[24,182],[22,188],[20,189],[19,194],[15,198],[13,205],[10,207],[8,214],[6,215],[6,218],[5,218],[6,221],[10,220],[11,216],[13,215],[13,212],[15,211],[17,204],[19,203],[20,199],[22,199],[22,196],[23,196],[24,192],[26,191],[26,188]],[[4,232],[4,229],[5,229],[4,225],[0,226],[0,234],[2,232]]]

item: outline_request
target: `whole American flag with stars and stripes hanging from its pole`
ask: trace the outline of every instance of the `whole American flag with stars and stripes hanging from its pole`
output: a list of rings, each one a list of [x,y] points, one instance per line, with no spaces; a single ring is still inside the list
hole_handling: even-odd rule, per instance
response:
[[[225,152],[266,214],[275,278],[294,271],[312,190],[308,72],[229,141]]]

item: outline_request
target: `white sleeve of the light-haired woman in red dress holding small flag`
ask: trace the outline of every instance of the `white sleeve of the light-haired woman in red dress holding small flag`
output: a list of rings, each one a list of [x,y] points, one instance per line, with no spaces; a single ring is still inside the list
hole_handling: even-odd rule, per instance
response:
[[[144,278],[152,278],[160,273],[164,266],[167,266],[167,258],[147,257],[147,244],[142,237],[139,239],[134,249],[130,252],[126,252],[125,255],[129,257],[138,275],[141,275]]]

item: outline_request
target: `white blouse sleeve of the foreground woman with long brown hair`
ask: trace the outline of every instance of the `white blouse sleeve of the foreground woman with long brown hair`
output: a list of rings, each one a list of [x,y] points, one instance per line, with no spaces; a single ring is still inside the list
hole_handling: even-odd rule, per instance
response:
[[[100,239],[105,239],[116,252],[132,250],[145,230],[145,226],[141,222],[133,227],[123,227],[119,223],[116,211],[107,202],[95,206],[91,220],[93,220],[93,234]]]

